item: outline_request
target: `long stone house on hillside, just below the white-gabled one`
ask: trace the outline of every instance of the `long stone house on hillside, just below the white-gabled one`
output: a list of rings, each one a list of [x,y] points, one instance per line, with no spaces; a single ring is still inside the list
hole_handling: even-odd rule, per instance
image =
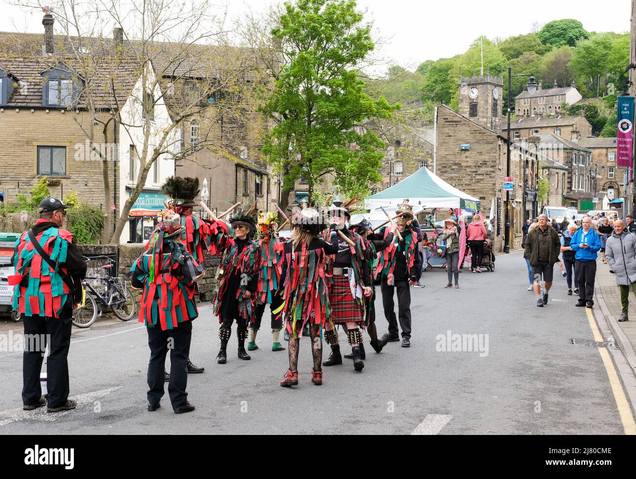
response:
[[[504,134],[508,125],[504,125]],[[510,123],[510,138],[512,140],[527,138],[537,134],[555,134],[569,141],[579,141],[580,138],[591,136],[592,127],[583,113],[577,116],[555,116],[543,118],[535,116],[518,117]]]

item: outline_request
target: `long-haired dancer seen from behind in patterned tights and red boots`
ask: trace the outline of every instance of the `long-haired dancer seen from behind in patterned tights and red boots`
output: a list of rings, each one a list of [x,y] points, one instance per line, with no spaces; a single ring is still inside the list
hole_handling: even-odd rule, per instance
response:
[[[303,329],[309,326],[314,368],[312,383],[322,384],[322,328],[329,323],[329,291],[326,261],[337,247],[318,237],[326,228],[325,218],[314,208],[292,212],[292,237],[285,243],[285,322],[289,332],[289,369],[280,381],[283,387],[298,384],[298,347]]]

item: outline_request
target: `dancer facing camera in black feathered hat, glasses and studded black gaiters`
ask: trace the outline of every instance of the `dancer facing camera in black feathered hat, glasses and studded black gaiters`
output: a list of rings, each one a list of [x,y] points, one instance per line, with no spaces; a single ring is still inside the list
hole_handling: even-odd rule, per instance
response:
[[[226,348],[232,334],[232,323],[237,322],[239,359],[251,359],[245,352],[247,326],[254,320],[254,309],[258,297],[258,274],[261,270],[261,249],[252,237],[256,230],[256,219],[252,216],[254,205],[247,211],[237,209],[230,216],[235,232],[234,245],[221,258],[219,283],[212,298],[212,310],[219,317],[221,349],[217,363],[227,362]]]

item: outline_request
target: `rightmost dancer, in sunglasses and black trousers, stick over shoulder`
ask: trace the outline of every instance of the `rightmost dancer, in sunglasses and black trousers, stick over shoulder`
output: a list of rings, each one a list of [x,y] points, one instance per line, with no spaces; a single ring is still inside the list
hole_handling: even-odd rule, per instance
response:
[[[382,291],[382,305],[384,316],[389,322],[389,332],[380,338],[380,344],[384,347],[387,342],[399,341],[397,330],[397,318],[395,303],[393,302],[394,290],[397,289],[397,310],[399,312],[399,325],[402,329],[402,347],[411,345],[411,290],[410,282],[417,282],[420,255],[417,253],[417,236],[410,225],[413,221],[413,207],[406,204],[398,205],[396,210],[397,230],[393,241],[380,253],[378,268],[375,277],[382,279],[380,286]],[[391,228],[385,227],[378,232],[385,239],[391,232]],[[399,239],[397,232],[401,234]]]

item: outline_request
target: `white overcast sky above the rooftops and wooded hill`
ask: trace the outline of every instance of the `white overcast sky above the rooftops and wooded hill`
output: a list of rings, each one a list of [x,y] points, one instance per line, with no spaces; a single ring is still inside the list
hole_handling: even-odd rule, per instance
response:
[[[228,16],[265,8],[272,0],[219,0]],[[629,0],[358,0],[359,10],[373,20],[387,43],[376,55],[414,69],[427,59],[464,52],[480,35],[488,38],[530,32],[534,22],[576,18],[588,31],[627,32]],[[0,31],[42,32],[41,11],[27,13],[0,0]]]

